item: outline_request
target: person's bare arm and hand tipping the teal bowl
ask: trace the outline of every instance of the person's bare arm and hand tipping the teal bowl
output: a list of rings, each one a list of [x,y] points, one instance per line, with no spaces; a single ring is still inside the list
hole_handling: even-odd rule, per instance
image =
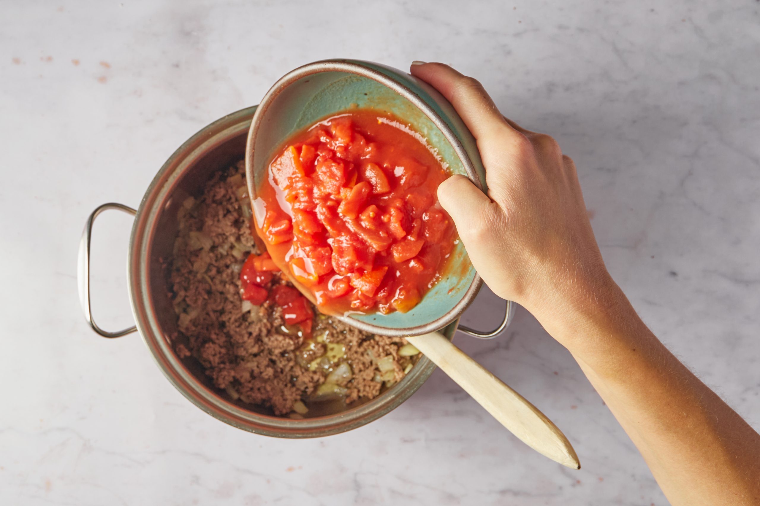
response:
[[[575,357],[672,504],[760,504],[760,436],[644,325],[603,264],[575,172],[556,141],[496,109],[477,81],[413,65],[477,138],[488,195],[439,187],[470,259]]]

